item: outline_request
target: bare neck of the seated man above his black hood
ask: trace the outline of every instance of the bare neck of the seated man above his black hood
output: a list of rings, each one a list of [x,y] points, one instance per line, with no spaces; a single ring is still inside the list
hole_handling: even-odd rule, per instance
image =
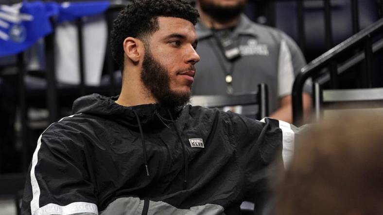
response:
[[[157,103],[151,93],[143,87],[140,79],[128,77],[129,75],[124,73],[122,77],[122,89],[116,103],[125,107]]]

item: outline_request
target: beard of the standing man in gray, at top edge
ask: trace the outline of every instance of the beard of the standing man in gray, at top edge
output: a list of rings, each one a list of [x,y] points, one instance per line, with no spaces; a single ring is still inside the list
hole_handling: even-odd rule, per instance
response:
[[[217,21],[225,22],[239,16],[246,5],[246,0],[238,2],[234,6],[221,6],[211,0],[199,0],[201,10]]]

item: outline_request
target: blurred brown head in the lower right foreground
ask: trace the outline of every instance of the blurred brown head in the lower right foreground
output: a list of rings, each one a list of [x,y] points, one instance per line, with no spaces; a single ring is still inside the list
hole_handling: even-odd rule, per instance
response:
[[[296,141],[275,215],[382,215],[382,131],[382,113],[310,127]]]

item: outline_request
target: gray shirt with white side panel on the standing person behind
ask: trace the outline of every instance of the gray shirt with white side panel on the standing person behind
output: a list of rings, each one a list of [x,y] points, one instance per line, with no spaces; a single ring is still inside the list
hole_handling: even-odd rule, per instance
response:
[[[257,91],[258,83],[266,83],[272,113],[279,108],[279,98],[291,94],[294,78],[306,64],[299,47],[289,36],[256,24],[245,15],[241,15],[239,25],[231,32],[241,53],[241,57],[232,62],[226,60],[210,29],[198,23],[196,32],[201,60],[195,65],[193,95],[226,94],[226,73],[233,68],[230,71],[232,92]],[[310,91],[310,86],[305,90]]]

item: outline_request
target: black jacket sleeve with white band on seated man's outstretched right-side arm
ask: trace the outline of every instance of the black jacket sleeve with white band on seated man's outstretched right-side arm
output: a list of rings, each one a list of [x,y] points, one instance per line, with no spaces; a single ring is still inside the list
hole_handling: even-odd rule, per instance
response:
[[[237,123],[237,152],[239,165],[244,169],[246,190],[254,196],[265,192],[270,164],[279,160],[286,168],[294,154],[294,142],[299,131],[289,123],[265,118],[256,121],[238,116],[242,123]]]

